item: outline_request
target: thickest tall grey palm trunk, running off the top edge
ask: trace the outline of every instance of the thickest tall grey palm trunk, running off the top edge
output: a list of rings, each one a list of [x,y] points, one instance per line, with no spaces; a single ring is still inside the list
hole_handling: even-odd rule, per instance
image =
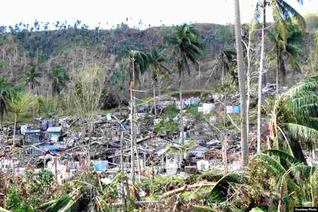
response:
[[[241,142],[242,142],[242,156],[243,166],[248,165],[248,135],[246,127],[247,113],[246,109],[246,89],[245,89],[245,73],[243,68],[243,51],[242,51],[242,36],[241,36],[241,17],[239,11],[239,0],[234,0],[234,20],[235,20],[235,38],[236,38],[236,52],[237,64],[239,72],[239,93],[241,99]]]

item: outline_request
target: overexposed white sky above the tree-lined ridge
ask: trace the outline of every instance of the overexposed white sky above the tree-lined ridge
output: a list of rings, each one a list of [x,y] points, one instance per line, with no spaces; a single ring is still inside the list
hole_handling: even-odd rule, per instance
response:
[[[316,0],[303,0],[304,5],[300,6],[296,0],[286,0],[301,14],[304,12],[317,12],[318,3]],[[241,22],[249,22],[252,15],[252,8],[257,0],[240,0]],[[136,4],[137,3],[137,4]],[[176,25],[190,21],[198,23],[233,23],[233,0],[210,0],[197,1],[196,4],[190,4],[190,1],[181,0],[161,0],[157,4],[153,1],[73,1],[73,0],[55,0],[45,3],[43,0],[31,1],[5,1],[0,13],[0,25],[11,25],[23,21],[24,23],[34,24],[35,19],[43,22],[52,23],[56,21],[67,22],[74,25],[76,19],[82,20],[82,23],[89,25],[92,29],[98,26],[108,29],[112,25],[124,22],[129,18],[128,25],[133,27],[138,25],[142,19],[143,25],[158,26]],[[11,9],[8,9],[11,8]],[[194,11],[193,15],[190,11]],[[272,21],[271,11],[267,10],[267,21]],[[14,13],[14,14],[13,14]],[[132,18],[132,20],[131,20]],[[162,22],[160,22],[162,20]],[[108,25],[107,25],[108,22]],[[43,25],[42,25],[43,26]]]

